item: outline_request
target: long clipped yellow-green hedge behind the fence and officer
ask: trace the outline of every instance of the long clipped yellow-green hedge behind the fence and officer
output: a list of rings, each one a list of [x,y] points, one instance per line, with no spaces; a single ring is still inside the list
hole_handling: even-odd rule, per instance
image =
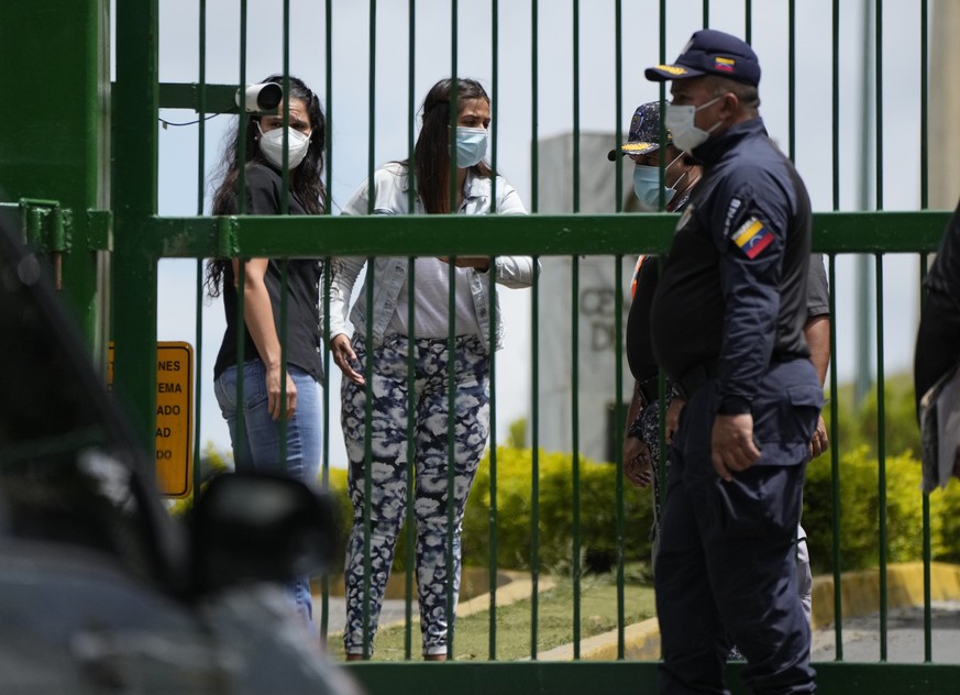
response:
[[[812,462],[804,490],[804,528],[815,572],[834,566],[830,455]],[[567,573],[573,558],[573,463],[570,454],[539,456],[539,566]],[[840,569],[875,567],[880,561],[879,463],[861,445],[839,461]],[[581,550],[585,569],[604,570],[616,562],[616,467],[581,460]],[[489,558],[489,455],[484,456],[467,501],[463,530],[464,563],[487,566]],[[497,566],[528,570],[531,559],[532,453],[529,449],[497,450]],[[352,510],[346,497],[346,471],[331,470],[330,484],[340,503],[341,537],[350,531]],[[923,559],[923,495],[920,464],[906,453],[886,459],[887,561]],[[624,560],[648,562],[652,523],[649,489],[624,486]],[[930,496],[933,559],[960,562],[960,484]],[[404,567],[406,533],[397,551]],[[338,567],[338,572],[341,567]]]

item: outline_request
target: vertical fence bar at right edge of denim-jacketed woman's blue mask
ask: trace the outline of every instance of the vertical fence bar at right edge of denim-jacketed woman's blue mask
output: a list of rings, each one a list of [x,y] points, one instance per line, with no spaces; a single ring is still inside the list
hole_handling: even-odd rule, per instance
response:
[[[490,85],[490,163],[494,174],[490,177],[490,212],[497,212],[497,104],[499,102],[499,2],[493,0],[490,8],[490,53],[492,53],[492,75],[493,84]],[[489,505],[489,650],[488,658],[490,661],[497,659],[497,321],[499,309],[497,301],[497,260],[490,258],[489,276],[489,297],[490,297],[490,322],[488,335],[488,352],[490,355],[490,448],[489,448],[489,465],[490,465],[490,505]],[[519,442],[515,442],[519,444]]]

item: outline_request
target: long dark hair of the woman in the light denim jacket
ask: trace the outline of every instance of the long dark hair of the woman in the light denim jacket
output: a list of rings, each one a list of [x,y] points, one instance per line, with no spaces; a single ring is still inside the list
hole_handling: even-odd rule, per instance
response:
[[[423,99],[423,125],[413,147],[417,167],[417,192],[423,209],[430,213],[450,212],[450,102],[452,79],[441,79],[430,88]],[[489,96],[475,79],[456,80],[457,103],[483,99],[488,104]],[[456,112],[460,113],[457,106]],[[493,175],[485,162],[471,167],[478,176]]]

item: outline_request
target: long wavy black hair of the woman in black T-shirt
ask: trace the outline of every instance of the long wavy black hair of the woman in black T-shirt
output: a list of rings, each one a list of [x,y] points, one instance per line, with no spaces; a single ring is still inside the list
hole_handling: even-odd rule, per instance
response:
[[[327,118],[323,115],[323,109],[320,106],[320,99],[313,93],[304,80],[294,77],[290,80],[290,93],[284,100],[284,103],[289,108],[289,102],[293,99],[299,99],[307,108],[307,114],[310,118],[310,147],[307,150],[307,155],[304,161],[296,167],[290,169],[290,192],[297,197],[297,200],[304,206],[308,214],[321,214],[327,208],[327,187],[323,185],[323,153],[327,147]],[[271,75],[261,80],[262,82],[284,84],[283,75]],[[223,156],[220,161],[220,166],[216,178],[220,179],[217,186],[217,191],[213,194],[213,214],[235,214],[238,211],[236,205],[236,180],[240,177],[240,162],[238,161],[238,152],[240,145],[240,122],[238,117],[236,124],[233,126],[227,140],[227,146],[223,148]],[[246,119],[246,130],[243,133],[246,145],[246,162],[245,165],[252,163],[269,166],[263,153],[260,151],[257,139],[260,130],[257,123],[258,117]],[[207,263],[207,293],[211,297],[217,297],[220,294],[221,284],[223,282],[223,272],[230,261],[224,258],[216,258]]]

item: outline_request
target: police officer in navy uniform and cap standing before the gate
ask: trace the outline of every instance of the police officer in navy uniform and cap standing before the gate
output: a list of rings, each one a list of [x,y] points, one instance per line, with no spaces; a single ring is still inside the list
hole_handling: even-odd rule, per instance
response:
[[[672,65],[673,142],[704,163],[651,312],[686,406],[671,446],[655,576],[662,693],[727,693],[736,643],[754,693],[813,693],[796,529],[823,391],[803,334],[810,203],[757,108],[744,42],[694,33]]]

